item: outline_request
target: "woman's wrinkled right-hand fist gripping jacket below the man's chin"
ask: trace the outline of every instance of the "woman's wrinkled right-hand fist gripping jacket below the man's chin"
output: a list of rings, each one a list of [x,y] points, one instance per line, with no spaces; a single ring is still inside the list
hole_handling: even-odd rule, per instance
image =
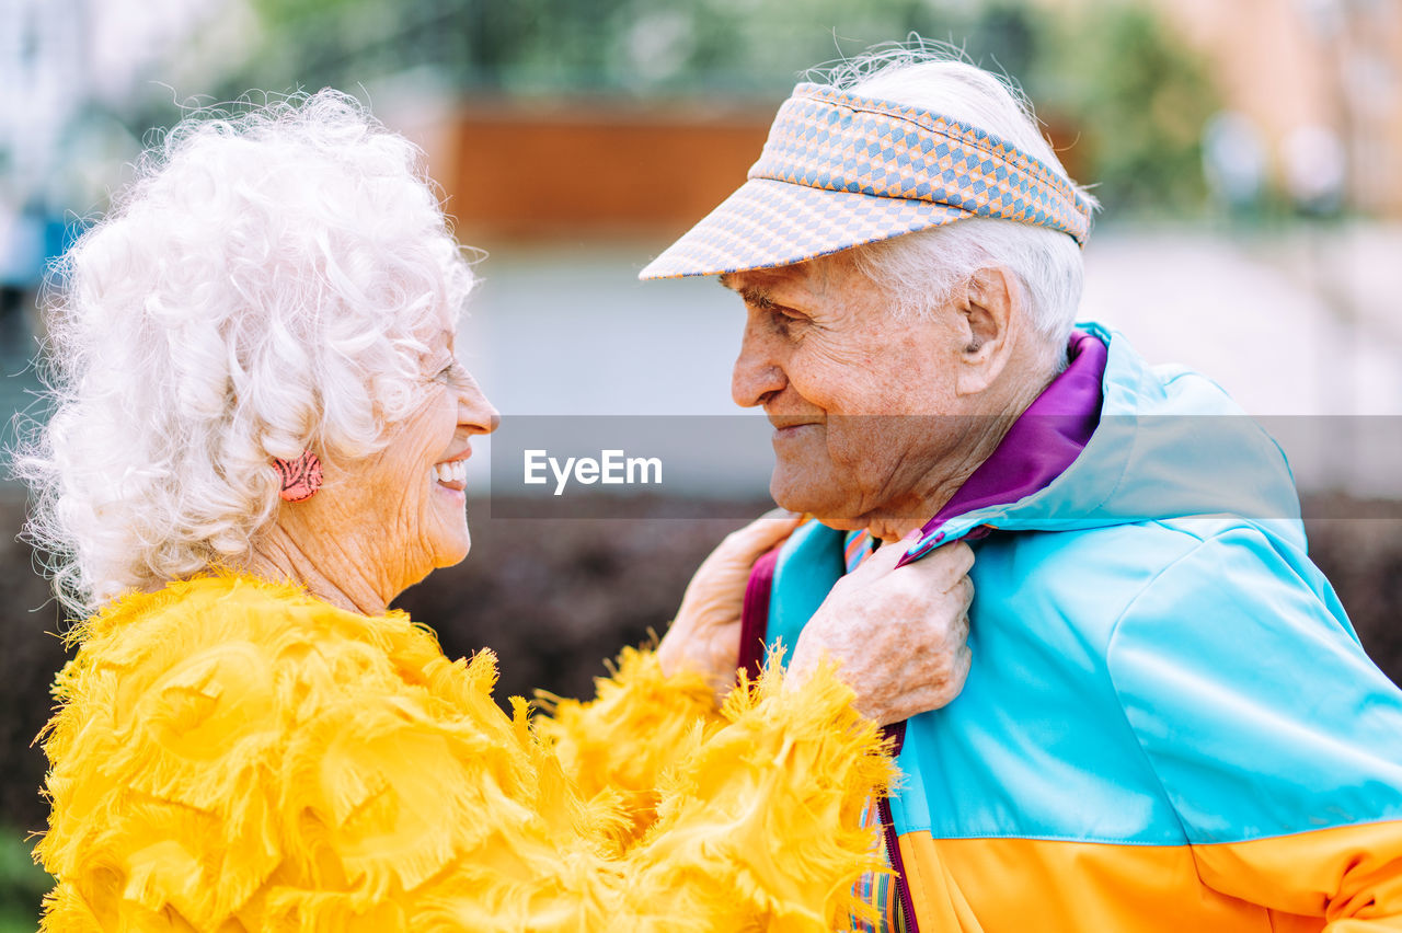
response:
[[[837,581],[788,668],[796,686],[831,658],[857,710],[883,726],[945,706],[969,675],[973,551],[960,541],[896,569],[906,544],[879,548]]]

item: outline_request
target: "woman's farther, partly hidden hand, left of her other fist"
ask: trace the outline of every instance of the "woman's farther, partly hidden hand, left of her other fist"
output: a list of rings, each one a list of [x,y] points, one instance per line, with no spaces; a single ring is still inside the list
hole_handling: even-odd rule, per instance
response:
[[[718,695],[735,685],[740,657],[740,609],[750,569],[798,528],[799,517],[782,510],[732,531],[697,569],[677,618],[658,646],[662,672],[702,674]]]

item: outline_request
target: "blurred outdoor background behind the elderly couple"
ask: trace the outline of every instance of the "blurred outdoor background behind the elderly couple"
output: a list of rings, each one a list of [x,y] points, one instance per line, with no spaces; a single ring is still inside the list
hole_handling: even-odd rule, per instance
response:
[[[43,272],[153,127],[334,85],[423,146],[486,251],[458,346],[503,413],[732,413],[739,303],[637,272],[743,181],[806,69],[911,32],[1026,91],[1103,205],[1085,317],[1269,419],[1315,560],[1402,677],[1402,0],[0,0],[0,408],[42,419]],[[471,559],[401,604],[450,656],[496,649],[503,698],[587,692],[735,524],[704,490],[494,520],[472,462]],[[48,887],[31,741],[64,657],[22,513],[0,482],[0,932]]]

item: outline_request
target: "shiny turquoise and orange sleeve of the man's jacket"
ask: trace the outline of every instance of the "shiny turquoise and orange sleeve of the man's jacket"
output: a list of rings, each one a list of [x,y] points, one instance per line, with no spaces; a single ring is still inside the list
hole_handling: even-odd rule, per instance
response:
[[[1402,929],[1402,692],[1326,587],[1260,531],[1207,538],[1127,607],[1109,671],[1206,884]]]

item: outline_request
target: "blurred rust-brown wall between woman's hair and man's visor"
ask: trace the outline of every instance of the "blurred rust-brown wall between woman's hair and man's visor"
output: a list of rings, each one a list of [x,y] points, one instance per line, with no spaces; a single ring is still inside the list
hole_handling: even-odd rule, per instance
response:
[[[464,102],[429,156],[468,241],[656,237],[744,181],[773,118],[774,105]]]

